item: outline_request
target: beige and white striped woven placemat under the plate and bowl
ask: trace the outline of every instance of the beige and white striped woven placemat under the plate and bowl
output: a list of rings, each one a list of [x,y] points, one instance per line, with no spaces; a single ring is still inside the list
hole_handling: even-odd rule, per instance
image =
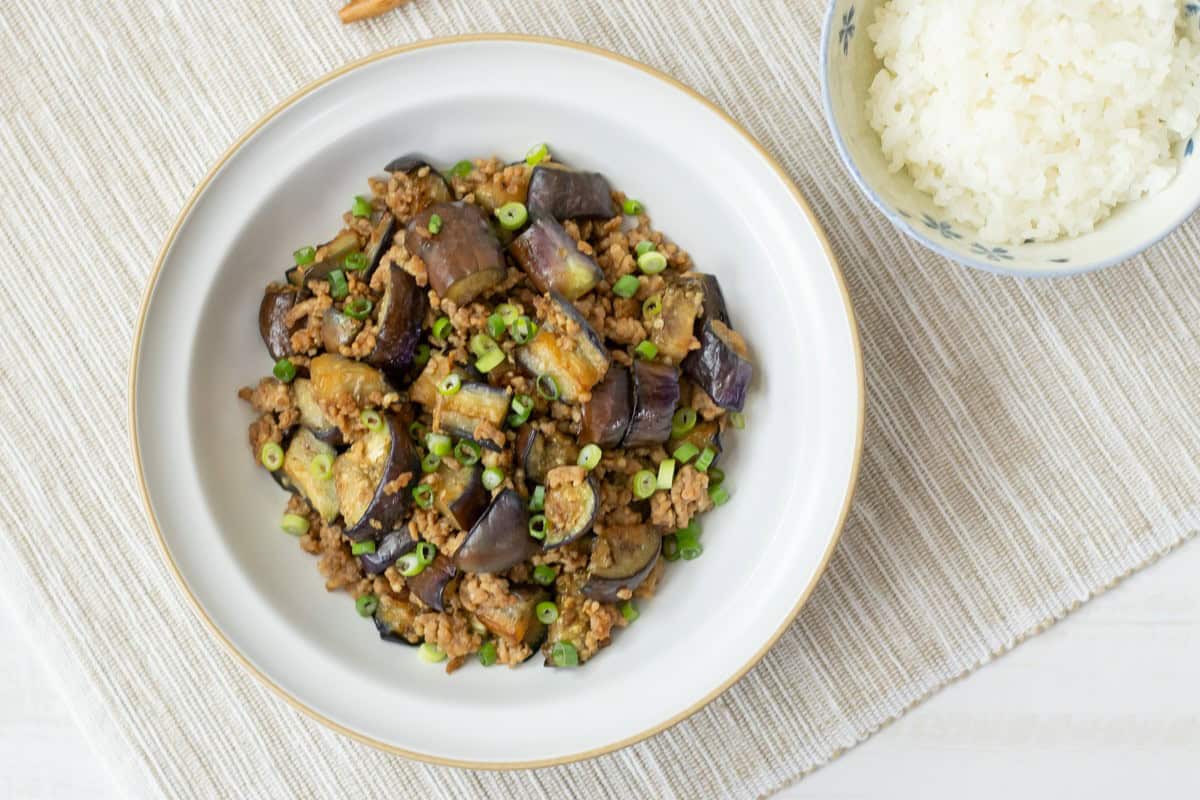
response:
[[[817,0],[413,0],[352,28],[337,5],[0,10],[0,593],[130,795],[769,794],[1196,528],[1195,223],[1118,269],[1055,282],[931,257],[838,162]],[[377,752],[260,686],[175,587],[127,444],[138,303],[210,164],[329,70],[476,31],[617,50],[743,122],[829,231],[866,362],[857,499],[796,624],[686,722],[535,772]]]

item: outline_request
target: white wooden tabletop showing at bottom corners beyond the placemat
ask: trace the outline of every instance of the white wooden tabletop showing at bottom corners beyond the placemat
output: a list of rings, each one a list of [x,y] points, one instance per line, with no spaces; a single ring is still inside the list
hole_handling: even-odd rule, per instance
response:
[[[0,798],[116,798],[0,607]],[[781,798],[1200,796],[1200,542]]]

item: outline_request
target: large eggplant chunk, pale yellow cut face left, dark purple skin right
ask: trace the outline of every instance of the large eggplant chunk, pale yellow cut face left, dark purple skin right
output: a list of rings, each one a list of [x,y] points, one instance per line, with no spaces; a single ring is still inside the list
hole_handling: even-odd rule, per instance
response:
[[[419,476],[421,459],[396,415],[385,414],[382,429],[367,433],[334,462],[334,483],[349,539],[374,539],[395,527],[412,493],[390,485],[404,473]]]

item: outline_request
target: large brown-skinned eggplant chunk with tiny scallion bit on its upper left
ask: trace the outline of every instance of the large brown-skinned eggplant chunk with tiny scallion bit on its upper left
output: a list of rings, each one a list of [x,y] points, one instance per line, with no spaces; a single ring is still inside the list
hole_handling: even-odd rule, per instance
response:
[[[442,228],[428,230],[430,217],[438,215]],[[433,290],[456,305],[470,302],[502,283],[504,252],[484,211],[467,203],[438,203],[408,223],[404,245],[425,261]]]

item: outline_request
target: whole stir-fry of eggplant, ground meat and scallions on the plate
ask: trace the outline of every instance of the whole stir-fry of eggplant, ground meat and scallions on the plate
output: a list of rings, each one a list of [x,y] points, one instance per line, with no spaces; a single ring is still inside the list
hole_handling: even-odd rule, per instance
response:
[[[274,375],[239,396],[282,528],[448,672],[581,664],[728,500],[746,344],[641,203],[545,145],[384,172],[259,307]]]

